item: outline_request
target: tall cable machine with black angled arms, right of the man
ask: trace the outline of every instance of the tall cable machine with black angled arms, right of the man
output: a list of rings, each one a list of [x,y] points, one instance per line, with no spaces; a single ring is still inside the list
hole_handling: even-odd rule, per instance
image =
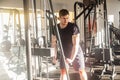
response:
[[[88,4],[85,5],[85,2],[87,2]],[[78,15],[76,15],[76,11],[77,11],[76,5],[83,8],[83,11],[81,11],[80,14],[78,14]],[[99,8],[101,8],[101,10]],[[102,59],[100,59],[100,60],[103,61],[103,70],[100,73],[100,77],[98,79],[101,79],[101,77],[107,71],[109,71],[108,66],[111,65],[112,71],[110,71],[110,75],[111,75],[110,79],[113,80],[114,76],[115,76],[115,73],[114,73],[115,69],[114,69],[114,64],[112,63],[113,58],[112,58],[112,51],[111,51],[111,47],[110,47],[110,35],[109,35],[110,33],[109,33],[108,21],[107,21],[106,0],[85,0],[84,3],[76,2],[74,5],[74,12],[75,12],[75,20],[77,20],[82,15],[84,15],[85,50],[87,49],[87,47],[90,47],[89,56],[91,54],[95,53],[96,60],[99,59],[100,55],[101,55]],[[101,12],[101,13],[99,13],[99,12]],[[92,25],[89,22],[91,14],[93,14]],[[102,16],[101,16],[101,14],[102,14]],[[87,18],[88,18],[88,20],[86,20]],[[100,18],[101,18],[101,20],[100,20]],[[89,27],[90,27],[90,25],[92,27],[90,30],[91,31],[90,42],[89,42],[90,44],[88,46],[86,46],[86,44],[87,44],[87,37],[86,37],[87,36],[87,33],[86,33],[87,32],[87,25],[86,25],[86,23],[89,24]],[[99,36],[98,34],[97,34],[97,36],[95,36],[95,34],[93,34],[93,31],[95,28],[94,26],[97,26],[97,28],[98,28],[97,33],[98,33],[98,32],[100,32],[99,27],[101,27],[102,24],[104,27],[101,28],[101,30],[103,30],[103,31],[101,31],[101,36]],[[97,38],[99,38],[99,39],[97,39]],[[101,39],[101,43],[99,43],[100,39]],[[96,45],[96,40],[98,40],[97,45]],[[98,56],[98,57],[96,58],[96,56]]]

